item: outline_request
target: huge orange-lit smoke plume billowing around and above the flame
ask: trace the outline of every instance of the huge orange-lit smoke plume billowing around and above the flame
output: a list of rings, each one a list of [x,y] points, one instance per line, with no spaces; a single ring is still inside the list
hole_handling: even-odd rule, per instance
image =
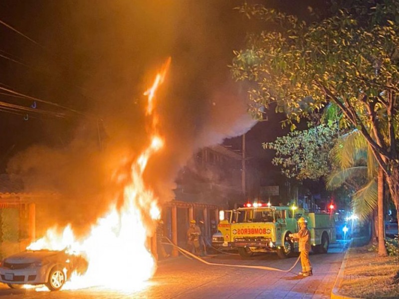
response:
[[[129,171],[149,143],[143,92],[169,56],[172,65],[156,104],[166,144],[145,172],[161,201],[173,198],[176,174],[193,153],[254,125],[246,94],[231,81],[227,67],[244,36],[234,6],[230,1],[118,0],[56,1],[43,8],[40,17],[57,26],[33,27],[30,35],[63,62],[30,60],[50,73],[61,71],[63,79],[46,87],[40,82],[48,78],[31,82],[87,115],[73,118],[68,133],[57,132],[62,143],[31,146],[8,163],[7,171],[24,181],[26,191],[58,194],[38,201],[43,227],[85,228],[119,200],[123,181],[115,178]],[[81,87],[79,96],[65,88],[71,82]]]

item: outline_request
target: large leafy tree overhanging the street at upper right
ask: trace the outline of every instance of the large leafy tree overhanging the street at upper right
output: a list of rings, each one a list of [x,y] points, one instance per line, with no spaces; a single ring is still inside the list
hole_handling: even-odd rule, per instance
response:
[[[399,0],[349,2],[353,8],[312,24],[244,4],[241,12],[276,29],[252,34],[247,48],[235,52],[232,73],[254,81],[254,115],[276,103],[292,129],[295,121],[335,103],[345,124],[370,146],[399,210]]]

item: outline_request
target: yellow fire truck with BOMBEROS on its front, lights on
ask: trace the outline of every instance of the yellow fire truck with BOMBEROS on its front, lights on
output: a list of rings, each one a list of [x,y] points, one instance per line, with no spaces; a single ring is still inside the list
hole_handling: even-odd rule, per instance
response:
[[[289,234],[299,231],[300,217],[307,221],[314,252],[327,253],[330,243],[336,242],[334,215],[329,212],[248,203],[223,214],[218,232],[212,236],[212,245],[221,250],[236,249],[244,258],[256,252],[275,252],[280,258],[294,256],[298,244]]]

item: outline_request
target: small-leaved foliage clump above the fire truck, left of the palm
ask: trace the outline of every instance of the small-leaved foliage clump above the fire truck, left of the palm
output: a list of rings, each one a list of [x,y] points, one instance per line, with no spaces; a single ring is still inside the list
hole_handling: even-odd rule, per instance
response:
[[[281,166],[289,178],[317,180],[330,170],[329,152],[337,139],[337,125],[319,125],[305,131],[293,131],[274,142],[263,143],[264,149],[276,150],[273,164]]]

